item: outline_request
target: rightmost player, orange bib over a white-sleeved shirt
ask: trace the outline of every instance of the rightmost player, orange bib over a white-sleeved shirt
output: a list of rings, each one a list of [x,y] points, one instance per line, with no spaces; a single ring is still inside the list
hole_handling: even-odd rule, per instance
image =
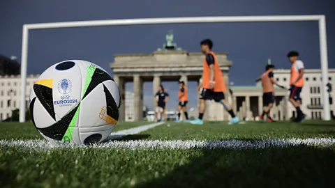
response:
[[[291,66],[291,77],[290,77],[290,97],[289,100],[291,104],[297,109],[297,118],[294,120],[296,122],[302,123],[306,115],[301,111],[301,97],[300,93],[302,87],[304,86],[304,63],[299,60],[299,53],[291,51],[288,53],[288,58],[292,63]]]

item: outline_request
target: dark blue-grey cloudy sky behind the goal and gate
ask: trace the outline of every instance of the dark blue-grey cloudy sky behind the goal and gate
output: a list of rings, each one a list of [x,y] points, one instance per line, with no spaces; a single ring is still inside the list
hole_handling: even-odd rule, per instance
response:
[[[1,0],[0,54],[17,56],[20,61],[23,24],[149,17],[325,15],[329,68],[335,68],[334,8],[334,0]],[[290,68],[286,58],[290,50],[301,54],[306,68],[320,68],[317,22],[161,24],[30,31],[28,74],[40,74],[66,59],[91,61],[112,74],[109,63],[114,61],[114,54],[154,52],[162,47],[170,29],[178,47],[188,52],[200,52],[199,43],[204,38],[214,41],[214,52],[228,52],[233,62],[230,81],[235,85],[254,85],[268,58],[276,68]],[[177,83],[163,84],[172,96],[168,108],[175,109]],[[195,90],[195,83],[188,87]],[[132,88],[132,84],[126,85],[127,91]],[[196,106],[196,96],[190,97],[190,103]],[[152,109],[151,103],[151,83],[144,83],[144,104]]]

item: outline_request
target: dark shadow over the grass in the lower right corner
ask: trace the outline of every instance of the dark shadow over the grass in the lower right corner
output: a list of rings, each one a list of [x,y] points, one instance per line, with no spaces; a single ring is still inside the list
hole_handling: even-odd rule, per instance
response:
[[[335,151],[306,146],[202,150],[137,187],[335,187]]]

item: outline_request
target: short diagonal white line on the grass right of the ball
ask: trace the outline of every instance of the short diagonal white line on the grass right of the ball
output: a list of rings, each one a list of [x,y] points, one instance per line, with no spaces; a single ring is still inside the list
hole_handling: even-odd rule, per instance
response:
[[[134,127],[134,128],[128,129],[128,130],[120,130],[118,132],[112,132],[110,134],[110,136],[107,137],[106,140],[108,141],[108,140],[113,140],[113,139],[119,139],[122,136],[126,136],[126,135],[129,135],[129,134],[138,134],[140,132],[144,132],[146,130],[152,129],[154,127],[157,127],[157,126],[163,125],[163,124],[164,124],[164,122],[151,123],[149,125],[142,125],[142,126],[139,126],[139,127]]]

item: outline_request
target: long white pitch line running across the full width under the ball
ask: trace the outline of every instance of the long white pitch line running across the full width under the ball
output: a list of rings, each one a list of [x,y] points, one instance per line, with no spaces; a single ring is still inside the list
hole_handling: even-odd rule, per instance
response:
[[[116,148],[116,149],[257,149],[257,148],[288,148],[294,146],[335,146],[335,139],[273,139],[260,141],[223,140],[223,141],[109,141],[91,146],[54,145],[45,140],[8,141],[0,140],[0,146],[24,147],[29,149],[47,150],[53,148]]]

